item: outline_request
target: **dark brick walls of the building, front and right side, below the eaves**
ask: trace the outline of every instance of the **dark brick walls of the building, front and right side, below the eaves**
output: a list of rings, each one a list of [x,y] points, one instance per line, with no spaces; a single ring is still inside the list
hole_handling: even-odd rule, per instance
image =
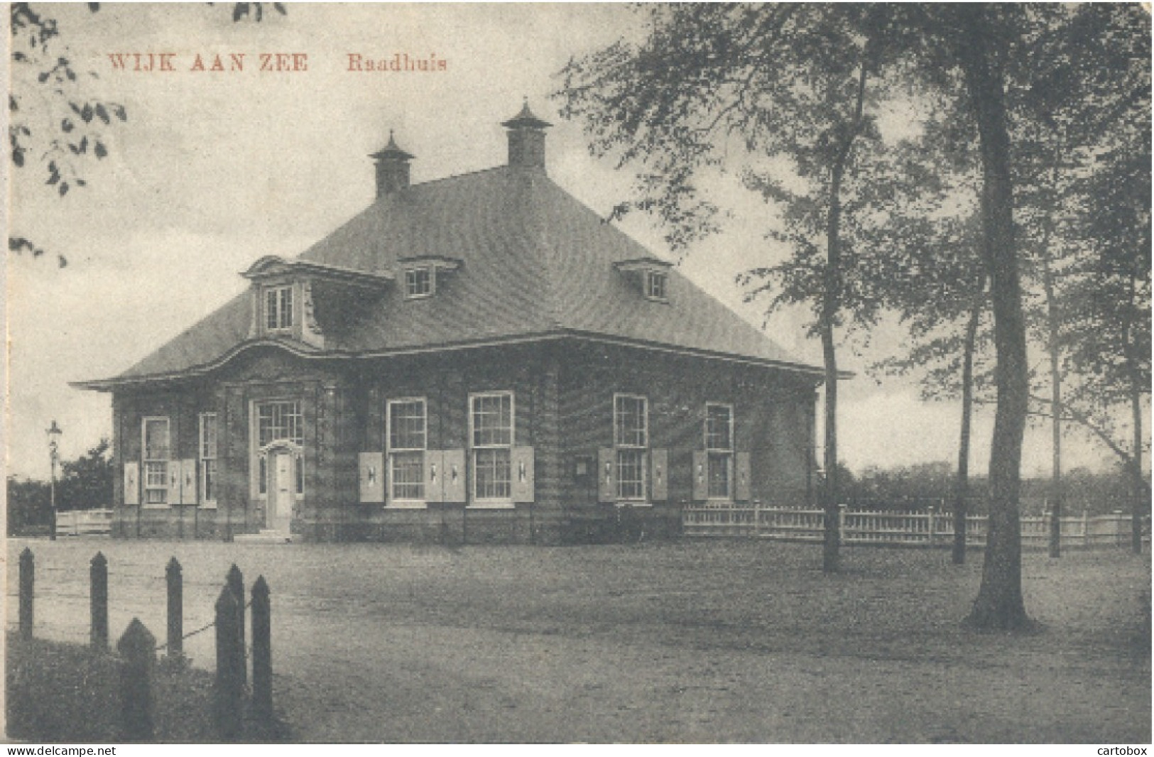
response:
[[[514,443],[534,449],[534,502],[424,510],[360,503],[359,455],[385,450],[388,400],[424,397],[428,449],[467,450],[469,396],[482,391],[514,392]],[[636,512],[598,502],[595,471],[575,474],[578,458],[595,463],[598,450],[613,445],[615,392],[649,399],[650,449],[668,450],[668,501]],[[800,503],[807,493],[814,390],[812,380],[796,374],[577,340],[355,363],[268,348],[238,357],[211,381],[115,394],[118,462],[140,459],[145,415],[171,419],[173,459],[197,458],[198,413],[217,413],[219,439],[215,511],[121,505],[114,532],[227,538],[264,527],[265,497],[253,495],[249,425],[253,404],[272,399],[301,403],[305,494],[292,530],[307,540],[559,544],[616,539],[635,526],[674,534],[680,503],[692,496],[692,455],[704,448],[707,402],[734,407],[735,450],[751,455],[755,499]]]

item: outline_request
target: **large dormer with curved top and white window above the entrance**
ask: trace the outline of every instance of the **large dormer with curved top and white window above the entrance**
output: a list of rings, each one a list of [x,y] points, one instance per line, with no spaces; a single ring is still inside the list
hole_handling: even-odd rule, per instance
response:
[[[241,276],[253,282],[250,339],[286,338],[316,348],[324,348],[327,325],[351,315],[350,303],[382,294],[394,280],[388,271],[370,273],[276,255],[260,258]]]

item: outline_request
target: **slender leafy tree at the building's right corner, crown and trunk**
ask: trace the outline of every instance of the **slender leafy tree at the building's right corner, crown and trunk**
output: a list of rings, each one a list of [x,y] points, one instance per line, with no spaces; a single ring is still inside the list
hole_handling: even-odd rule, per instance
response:
[[[717,207],[697,181],[729,168],[774,209],[781,226],[767,237],[793,252],[743,275],[747,297],[767,310],[804,303],[814,313],[825,363],[824,564],[837,569],[833,509],[837,475],[838,368],[834,330],[848,315],[868,325],[876,301],[862,295],[859,272],[872,260],[865,239],[878,233],[893,197],[870,193],[870,157],[884,155],[871,82],[885,46],[886,14],[869,6],[684,5],[646,9],[649,35],[621,42],[562,72],[562,114],[579,118],[594,155],[614,155],[638,172],[635,198],[655,216],[667,241],[683,248],[717,231]],[[868,212],[872,210],[872,212]]]

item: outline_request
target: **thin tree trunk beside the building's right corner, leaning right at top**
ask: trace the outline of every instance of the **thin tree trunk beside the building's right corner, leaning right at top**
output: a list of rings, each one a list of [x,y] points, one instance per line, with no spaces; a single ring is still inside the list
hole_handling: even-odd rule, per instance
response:
[[[833,342],[833,325],[841,306],[841,180],[861,133],[862,111],[865,104],[865,62],[857,77],[857,97],[853,121],[830,170],[830,210],[826,217],[825,282],[822,295],[822,357],[825,363],[825,527],[822,545],[822,570],[832,574],[841,568],[841,523],[838,512],[840,488],[838,481],[838,357]]]

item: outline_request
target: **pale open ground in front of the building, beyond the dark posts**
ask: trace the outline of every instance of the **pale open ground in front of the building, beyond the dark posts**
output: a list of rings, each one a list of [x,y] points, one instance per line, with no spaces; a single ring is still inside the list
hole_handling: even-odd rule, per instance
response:
[[[1151,741],[1151,563],[1121,550],[1024,556],[1042,630],[960,620],[981,553],[681,541],[601,547],[10,540],[37,562],[36,634],[88,638],[88,561],[108,557],[111,632],[185,629],[225,572],[271,587],[275,698],[302,741]],[[186,642],[215,665],[212,630]]]

